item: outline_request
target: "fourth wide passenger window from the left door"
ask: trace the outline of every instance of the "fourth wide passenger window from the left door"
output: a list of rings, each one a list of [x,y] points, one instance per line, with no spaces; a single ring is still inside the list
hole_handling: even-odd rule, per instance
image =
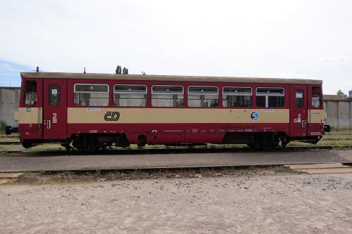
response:
[[[189,86],[188,105],[195,108],[210,108],[219,105],[219,89],[214,86]]]

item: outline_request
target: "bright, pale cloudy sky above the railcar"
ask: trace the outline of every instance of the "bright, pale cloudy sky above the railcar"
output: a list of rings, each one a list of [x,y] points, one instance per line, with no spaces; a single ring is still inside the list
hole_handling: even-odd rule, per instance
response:
[[[322,79],[352,89],[352,1],[0,0],[0,86],[22,71]]]

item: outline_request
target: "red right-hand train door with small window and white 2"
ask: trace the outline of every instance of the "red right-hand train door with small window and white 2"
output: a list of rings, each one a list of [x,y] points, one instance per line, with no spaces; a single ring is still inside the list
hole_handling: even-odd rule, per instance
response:
[[[290,136],[307,135],[307,86],[291,84],[290,91]]]

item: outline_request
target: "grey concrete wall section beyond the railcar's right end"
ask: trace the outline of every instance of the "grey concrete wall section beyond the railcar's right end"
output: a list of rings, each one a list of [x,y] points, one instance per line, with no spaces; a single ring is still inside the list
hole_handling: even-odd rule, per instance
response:
[[[334,129],[352,129],[352,100],[325,100],[327,121]]]

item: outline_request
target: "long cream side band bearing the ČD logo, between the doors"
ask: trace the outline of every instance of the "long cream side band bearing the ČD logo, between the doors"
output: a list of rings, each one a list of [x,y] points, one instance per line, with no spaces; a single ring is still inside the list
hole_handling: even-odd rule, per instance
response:
[[[119,112],[117,121],[106,121],[106,112]],[[256,121],[251,112],[258,112]],[[69,124],[202,124],[289,123],[288,109],[204,108],[68,108]]]

